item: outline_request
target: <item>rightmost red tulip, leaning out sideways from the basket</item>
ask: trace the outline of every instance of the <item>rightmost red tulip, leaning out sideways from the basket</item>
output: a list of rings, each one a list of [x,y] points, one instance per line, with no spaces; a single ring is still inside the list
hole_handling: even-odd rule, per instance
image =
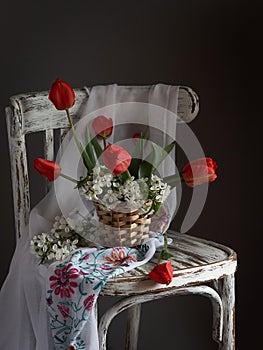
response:
[[[200,158],[188,163],[182,170],[182,177],[189,187],[213,182],[217,178],[217,164],[212,158]]]

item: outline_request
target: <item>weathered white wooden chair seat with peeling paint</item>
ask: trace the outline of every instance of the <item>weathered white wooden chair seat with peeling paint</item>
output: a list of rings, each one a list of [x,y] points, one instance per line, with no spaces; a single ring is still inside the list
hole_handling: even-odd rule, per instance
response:
[[[167,286],[156,283],[148,273],[157,262],[158,253],[147,264],[109,280],[101,295],[130,296],[158,293],[219,279],[235,272],[236,253],[229,247],[188,234],[168,231],[172,239],[173,280]]]

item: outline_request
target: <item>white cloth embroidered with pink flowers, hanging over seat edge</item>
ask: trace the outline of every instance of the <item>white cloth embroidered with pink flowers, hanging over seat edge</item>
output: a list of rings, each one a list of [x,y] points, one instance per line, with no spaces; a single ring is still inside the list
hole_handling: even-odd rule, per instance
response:
[[[48,269],[47,306],[54,349],[99,349],[94,305],[109,278],[145,264],[162,245],[150,238],[139,249],[114,247],[76,250]]]

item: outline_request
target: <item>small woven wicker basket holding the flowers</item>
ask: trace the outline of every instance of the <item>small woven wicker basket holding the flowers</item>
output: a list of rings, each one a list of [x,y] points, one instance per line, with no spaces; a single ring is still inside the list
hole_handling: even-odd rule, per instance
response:
[[[125,207],[125,203],[115,210],[106,210],[94,202],[99,218],[95,241],[105,247],[133,247],[149,237],[151,213],[141,215],[138,210]]]

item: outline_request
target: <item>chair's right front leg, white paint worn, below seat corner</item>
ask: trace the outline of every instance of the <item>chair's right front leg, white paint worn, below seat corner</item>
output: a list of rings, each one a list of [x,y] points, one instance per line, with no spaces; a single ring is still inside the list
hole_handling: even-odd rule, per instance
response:
[[[221,298],[223,303],[223,339],[219,350],[235,349],[235,276],[222,280]]]

